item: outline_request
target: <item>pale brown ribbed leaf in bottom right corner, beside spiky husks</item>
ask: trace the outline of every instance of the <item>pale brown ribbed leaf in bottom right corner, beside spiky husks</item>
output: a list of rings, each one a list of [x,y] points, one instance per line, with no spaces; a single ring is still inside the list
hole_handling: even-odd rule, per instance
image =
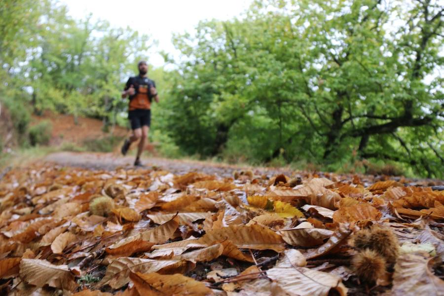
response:
[[[432,260],[416,254],[398,257],[392,295],[444,295],[444,281],[430,270]]]

